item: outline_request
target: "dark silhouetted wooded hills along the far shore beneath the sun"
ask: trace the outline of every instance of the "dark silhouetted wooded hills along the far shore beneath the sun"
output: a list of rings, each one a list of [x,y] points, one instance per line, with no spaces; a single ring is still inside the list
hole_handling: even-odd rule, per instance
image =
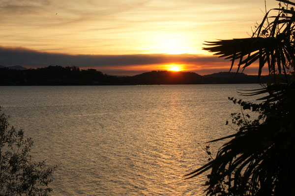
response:
[[[269,76],[244,73],[213,73],[199,75],[192,72],[152,71],[134,76],[114,76],[94,69],[49,66],[16,70],[0,68],[0,85],[145,85],[145,84],[234,84],[266,83]]]

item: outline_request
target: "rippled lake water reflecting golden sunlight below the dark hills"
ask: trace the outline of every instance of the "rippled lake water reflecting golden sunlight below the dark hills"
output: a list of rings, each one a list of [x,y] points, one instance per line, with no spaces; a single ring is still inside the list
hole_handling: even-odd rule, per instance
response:
[[[0,105],[34,160],[58,165],[52,196],[201,196],[205,175],[182,177],[207,163],[198,143],[234,133],[228,97],[259,87],[0,86]]]

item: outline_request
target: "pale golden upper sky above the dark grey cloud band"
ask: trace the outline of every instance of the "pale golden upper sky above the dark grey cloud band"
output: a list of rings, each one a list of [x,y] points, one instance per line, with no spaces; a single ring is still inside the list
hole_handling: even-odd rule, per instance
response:
[[[264,3],[265,0],[0,0],[0,47],[74,55],[211,56],[202,50],[204,42],[249,37],[251,26],[263,19]],[[269,9],[278,4],[275,0],[266,3]],[[154,70],[163,67],[163,63],[156,67],[153,62]],[[188,70],[189,63],[184,64],[166,70]],[[189,66],[193,65],[195,70],[201,69],[196,63]],[[127,66],[125,70],[130,68]]]

